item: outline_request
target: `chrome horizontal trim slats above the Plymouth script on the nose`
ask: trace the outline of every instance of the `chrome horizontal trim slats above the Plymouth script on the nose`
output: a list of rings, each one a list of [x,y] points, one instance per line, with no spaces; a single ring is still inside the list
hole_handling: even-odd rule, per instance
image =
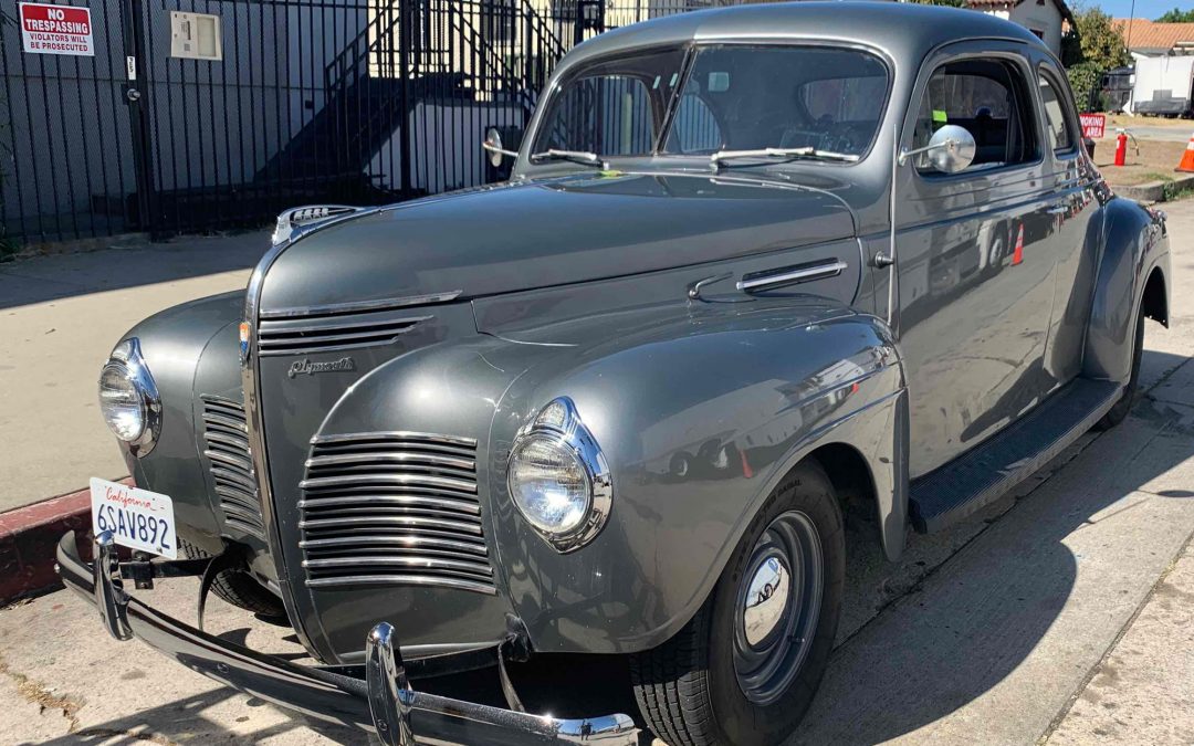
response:
[[[259,354],[307,354],[388,345],[431,316],[370,309],[344,313],[314,309],[307,315],[263,319],[257,332]]]

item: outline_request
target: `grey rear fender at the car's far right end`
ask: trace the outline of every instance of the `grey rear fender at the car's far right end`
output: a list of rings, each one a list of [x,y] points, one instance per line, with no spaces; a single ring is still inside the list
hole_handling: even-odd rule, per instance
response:
[[[1161,267],[1169,285],[1169,239],[1164,220],[1134,202],[1114,198],[1102,210],[1103,246],[1082,375],[1126,384],[1132,375],[1135,317],[1153,267]]]

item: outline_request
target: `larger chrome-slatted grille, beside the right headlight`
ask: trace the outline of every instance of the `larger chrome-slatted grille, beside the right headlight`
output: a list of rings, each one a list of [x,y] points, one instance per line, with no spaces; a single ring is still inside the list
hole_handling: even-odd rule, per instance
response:
[[[475,440],[416,432],[319,436],[300,487],[298,545],[309,587],[496,592]]]

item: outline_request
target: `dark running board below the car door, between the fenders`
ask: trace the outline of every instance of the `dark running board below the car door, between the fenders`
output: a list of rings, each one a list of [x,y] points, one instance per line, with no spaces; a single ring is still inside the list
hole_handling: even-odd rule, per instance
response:
[[[913,481],[912,528],[938,531],[993,503],[1090,430],[1119,401],[1112,381],[1077,378],[971,452]]]

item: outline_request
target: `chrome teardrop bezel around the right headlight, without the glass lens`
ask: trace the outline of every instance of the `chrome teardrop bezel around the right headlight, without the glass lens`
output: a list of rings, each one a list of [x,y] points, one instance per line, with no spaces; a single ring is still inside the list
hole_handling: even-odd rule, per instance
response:
[[[529,514],[515,485],[515,457],[533,442],[559,449],[571,456],[585,471],[589,482],[589,506],[584,518],[564,531],[553,531]],[[609,463],[596,438],[580,420],[577,407],[567,396],[547,403],[535,418],[518,431],[506,461],[506,489],[518,513],[556,551],[566,554],[591,542],[609,520],[614,506],[614,482]]]

